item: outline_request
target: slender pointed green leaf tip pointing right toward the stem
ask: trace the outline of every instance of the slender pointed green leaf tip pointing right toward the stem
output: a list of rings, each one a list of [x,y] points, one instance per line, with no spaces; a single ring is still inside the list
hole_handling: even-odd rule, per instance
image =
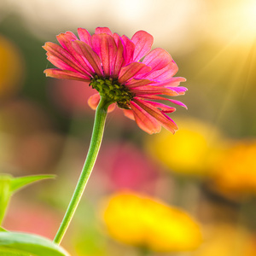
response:
[[[16,192],[17,190],[25,187],[30,183],[37,182],[46,178],[55,178],[55,175],[32,175],[24,177],[15,177],[11,179],[10,190],[11,192]]]

